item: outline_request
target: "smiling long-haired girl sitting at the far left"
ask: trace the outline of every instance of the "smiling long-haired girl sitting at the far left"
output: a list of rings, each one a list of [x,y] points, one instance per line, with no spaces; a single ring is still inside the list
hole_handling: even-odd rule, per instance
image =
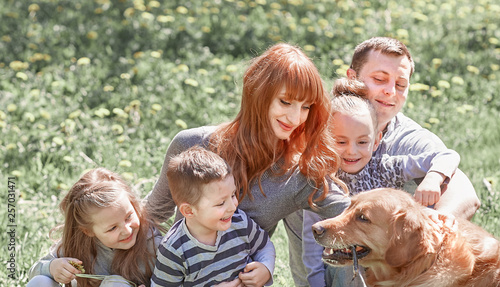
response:
[[[48,255],[31,267],[27,286],[150,285],[156,249],[161,241],[157,226],[140,200],[116,173],[96,168],[85,173],[60,204],[65,220],[62,238]],[[102,282],[77,277],[113,275]],[[119,276],[116,276],[119,275]]]

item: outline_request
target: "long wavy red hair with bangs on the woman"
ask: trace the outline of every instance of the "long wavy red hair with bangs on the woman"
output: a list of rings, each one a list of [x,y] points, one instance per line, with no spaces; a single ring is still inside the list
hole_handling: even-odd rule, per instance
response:
[[[288,140],[276,144],[269,119],[269,107],[282,88],[289,100],[311,103],[305,123],[297,127]],[[239,200],[252,199],[251,184],[259,184],[265,195],[261,177],[278,159],[283,158],[282,174],[299,168],[316,188],[328,193],[326,177],[339,169],[339,156],[328,132],[331,104],[320,74],[313,62],[296,46],[277,44],[256,57],[243,77],[241,108],[236,118],[219,126],[211,138],[212,148],[233,168],[241,190]],[[309,196],[313,198],[317,189]]]

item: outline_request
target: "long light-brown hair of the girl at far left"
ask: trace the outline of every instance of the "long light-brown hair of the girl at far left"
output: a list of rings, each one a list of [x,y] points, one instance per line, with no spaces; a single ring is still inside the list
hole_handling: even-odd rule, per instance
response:
[[[85,273],[94,274],[98,239],[87,235],[93,224],[90,221],[91,210],[112,206],[122,192],[127,193],[139,218],[140,227],[134,246],[128,250],[116,250],[111,273],[121,275],[137,285],[149,286],[156,254],[148,250],[147,239],[152,237],[152,227],[155,223],[148,219],[145,209],[129,185],[118,174],[105,168],[96,168],[85,173],[62,200],[60,208],[65,222],[57,254],[59,257],[80,259]],[[77,281],[78,286],[84,287],[100,284],[100,281],[85,278],[77,278]]]

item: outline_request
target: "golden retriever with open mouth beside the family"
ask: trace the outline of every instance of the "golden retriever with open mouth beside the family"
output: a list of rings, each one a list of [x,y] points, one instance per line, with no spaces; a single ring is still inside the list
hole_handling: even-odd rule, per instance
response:
[[[457,218],[458,230],[438,225],[425,208],[380,188],[353,196],[341,215],[312,229],[323,260],[359,262],[369,286],[500,286],[500,242],[465,219]]]

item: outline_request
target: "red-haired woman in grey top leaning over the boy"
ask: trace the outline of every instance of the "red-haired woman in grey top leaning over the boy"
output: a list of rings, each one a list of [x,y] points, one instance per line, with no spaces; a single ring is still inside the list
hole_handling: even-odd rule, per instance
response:
[[[304,208],[323,217],[340,214],[350,200],[333,176],[339,156],[328,132],[330,113],[328,95],[312,61],[296,46],[270,47],[246,70],[241,108],[233,121],[184,130],[174,137],[147,197],[150,214],[159,221],[173,215],[168,163],[194,145],[213,150],[228,162],[239,207],[270,233],[281,219]],[[301,230],[302,222],[296,224]],[[300,239],[301,231],[294,233]],[[300,241],[290,246],[291,252],[300,248]],[[291,262],[292,271],[302,264],[300,254],[295,258],[300,261]]]

